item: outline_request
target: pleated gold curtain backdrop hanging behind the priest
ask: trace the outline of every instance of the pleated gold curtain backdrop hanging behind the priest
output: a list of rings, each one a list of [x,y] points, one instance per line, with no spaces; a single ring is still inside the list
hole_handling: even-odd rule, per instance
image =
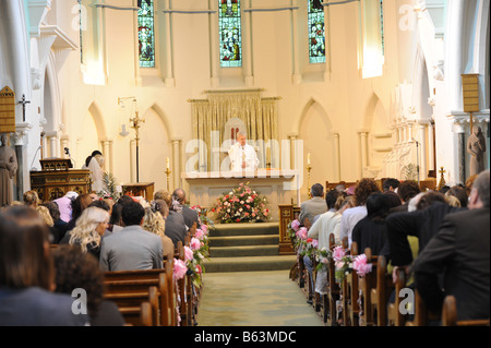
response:
[[[250,144],[258,151],[260,168],[266,168],[267,164],[274,168],[279,166],[279,146],[270,141],[279,142],[277,100],[280,98],[262,98],[262,92],[263,89],[205,91],[208,99],[189,100],[192,105],[193,139],[203,141],[207,148],[206,154],[203,146],[199,148],[200,168],[195,170],[209,171],[212,151],[230,140],[231,134],[226,132],[226,125],[235,118],[243,122],[248,142],[251,141]],[[212,136],[212,132],[216,132],[215,135]],[[223,157],[226,154],[220,156],[220,163]]]

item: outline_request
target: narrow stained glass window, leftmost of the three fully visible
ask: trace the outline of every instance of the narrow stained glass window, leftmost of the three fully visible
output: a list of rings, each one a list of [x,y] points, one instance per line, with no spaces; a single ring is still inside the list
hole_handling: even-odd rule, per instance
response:
[[[142,0],[139,10],[140,67],[155,68],[154,0]]]

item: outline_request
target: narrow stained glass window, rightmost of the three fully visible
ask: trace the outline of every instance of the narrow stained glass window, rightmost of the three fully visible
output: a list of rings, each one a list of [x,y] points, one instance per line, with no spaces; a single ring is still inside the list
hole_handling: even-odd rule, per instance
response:
[[[325,63],[324,7],[321,0],[309,0],[309,60]]]

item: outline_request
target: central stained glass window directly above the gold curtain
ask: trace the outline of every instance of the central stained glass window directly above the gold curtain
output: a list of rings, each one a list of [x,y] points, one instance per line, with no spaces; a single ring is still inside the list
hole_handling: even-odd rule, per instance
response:
[[[240,0],[218,0],[220,67],[242,67]]]

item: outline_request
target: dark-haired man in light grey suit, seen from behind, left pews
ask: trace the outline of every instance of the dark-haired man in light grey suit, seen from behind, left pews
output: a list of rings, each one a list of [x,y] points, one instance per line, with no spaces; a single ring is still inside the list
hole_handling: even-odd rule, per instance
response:
[[[100,269],[132,271],[163,268],[164,248],[159,236],[142,229],[145,211],[130,202],[121,212],[124,228],[103,239]]]

